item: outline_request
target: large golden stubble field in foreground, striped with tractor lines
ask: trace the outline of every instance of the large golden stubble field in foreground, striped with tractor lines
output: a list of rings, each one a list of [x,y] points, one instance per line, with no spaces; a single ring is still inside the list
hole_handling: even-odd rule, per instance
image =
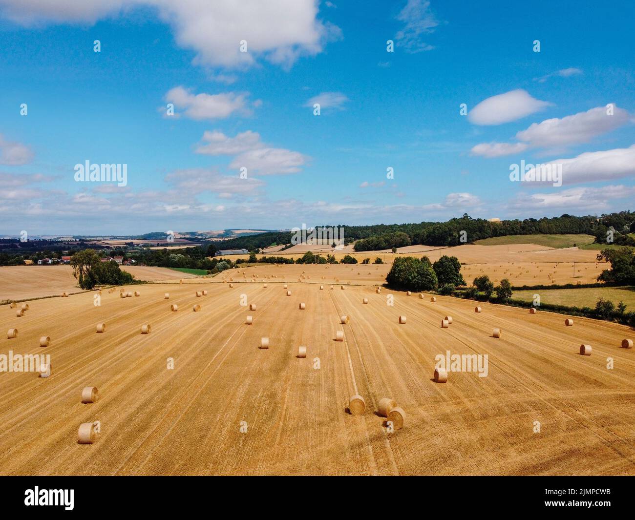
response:
[[[631,329],[488,303],[477,314],[474,302],[371,285],[319,290],[322,266],[298,267],[311,279],[133,286],[139,297],[104,290],[99,306],[92,293],[34,300],[22,317],[1,306],[0,354],[46,352],[53,372],[0,373],[0,474],[635,474],[635,349],[620,348]],[[435,383],[446,350],[486,354],[487,377]],[[97,403],[81,404],[86,386]],[[347,413],[354,394],[364,415]],[[404,429],[387,431],[382,397],[403,408]],[[97,420],[97,441],[77,444],[80,423]]]

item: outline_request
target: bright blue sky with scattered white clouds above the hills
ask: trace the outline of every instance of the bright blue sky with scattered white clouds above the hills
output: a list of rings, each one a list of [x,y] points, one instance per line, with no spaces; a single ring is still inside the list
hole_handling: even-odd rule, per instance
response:
[[[632,2],[24,4],[0,0],[2,234],[635,209]]]

